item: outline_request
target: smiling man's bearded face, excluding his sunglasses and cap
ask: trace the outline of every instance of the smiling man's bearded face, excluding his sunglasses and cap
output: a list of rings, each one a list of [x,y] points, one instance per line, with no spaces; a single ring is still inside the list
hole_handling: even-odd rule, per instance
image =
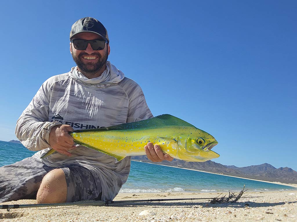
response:
[[[72,39],[94,40],[103,38],[96,33],[82,32],[76,34]],[[70,43],[70,52],[80,72],[91,76],[97,76],[97,73],[101,71],[103,72],[106,68],[106,61],[110,53],[110,48],[109,44],[105,43],[104,49],[93,50],[91,45],[88,44],[85,50],[77,50],[74,48],[73,44]]]

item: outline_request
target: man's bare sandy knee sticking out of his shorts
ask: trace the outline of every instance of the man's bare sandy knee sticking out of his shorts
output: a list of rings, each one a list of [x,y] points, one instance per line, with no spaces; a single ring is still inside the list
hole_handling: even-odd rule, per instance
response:
[[[37,192],[37,203],[63,203],[66,202],[67,184],[64,171],[54,169],[42,179]]]

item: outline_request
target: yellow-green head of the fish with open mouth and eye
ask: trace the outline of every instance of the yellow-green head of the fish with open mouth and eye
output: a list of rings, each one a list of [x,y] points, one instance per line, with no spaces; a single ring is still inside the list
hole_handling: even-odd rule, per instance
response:
[[[204,162],[220,156],[211,150],[217,144],[217,140],[204,131],[196,133],[196,136],[194,133],[179,135],[177,155],[188,162]]]

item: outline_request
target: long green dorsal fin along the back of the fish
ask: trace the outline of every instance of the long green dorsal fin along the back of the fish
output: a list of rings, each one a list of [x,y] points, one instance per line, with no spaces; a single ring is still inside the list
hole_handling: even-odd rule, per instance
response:
[[[132,123],[123,123],[116,126],[108,126],[105,128],[99,129],[90,129],[90,130],[76,130],[78,132],[87,132],[87,131],[109,131],[109,130],[133,130],[133,129],[149,129],[156,127],[165,127],[165,126],[190,126],[195,127],[190,123],[187,123],[184,120],[181,120],[175,116],[169,114],[159,115],[147,120],[140,120],[138,122]],[[195,127],[196,128],[196,127]]]

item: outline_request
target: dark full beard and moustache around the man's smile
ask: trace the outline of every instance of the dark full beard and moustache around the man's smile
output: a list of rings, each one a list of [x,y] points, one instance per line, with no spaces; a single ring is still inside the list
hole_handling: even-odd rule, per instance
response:
[[[72,54],[72,58],[73,58],[74,62],[76,63],[76,65],[78,66],[78,68],[81,70],[81,72],[83,74],[87,74],[89,76],[98,76],[98,73],[99,72],[102,73],[106,68],[106,62],[108,59],[107,47],[105,48],[105,53],[103,54],[103,56],[101,56],[101,54],[95,53],[95,52],[92,54],[82,52],[77,56],[75,53],[73,53],[73,50],[72,50],[71,54]],[[83,56],[98,57],[98,62],[97,63],[83,62],[83,58],[82,58]],[[100,73],[100,75],[101,75],[101,73]]]

